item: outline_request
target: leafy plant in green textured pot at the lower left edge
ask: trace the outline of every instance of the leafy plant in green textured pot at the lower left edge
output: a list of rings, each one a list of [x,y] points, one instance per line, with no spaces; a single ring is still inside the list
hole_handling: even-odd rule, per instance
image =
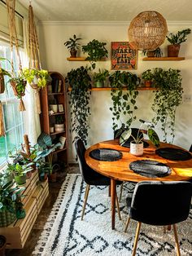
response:
[[[13,181],[0,178],[0,227],[7,227],[16,218],[24,218],[25,211],[21,203],[22,192],[25,188],[18,187]]]

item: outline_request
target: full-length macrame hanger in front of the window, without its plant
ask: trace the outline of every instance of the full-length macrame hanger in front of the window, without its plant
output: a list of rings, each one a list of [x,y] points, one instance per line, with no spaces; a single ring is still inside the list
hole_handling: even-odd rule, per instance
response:
[[[11,73],[12,73],[12,77],[15,77],[16,74],[15,74],[14,65],[13,65],[13,46],[14,46],[14,44],[15,44],[17,58],[19,60],[20,73],[22,73],[19,42],[18,42],[18,38],[17,38],[16,25],[15,25],[15,0],[7,0],[6,2],[7,2],[7,14],[8,14],[9,33],[10,33],[10,45],[11,45]],[[11,86],[16,95],[16,87],[17,87],[16,82],[11,81]],[[18,98],[20,99],[20,102],[19,102],[19,110],[20,111],[25,110],[22,96],[24,96],[24,94],[18,96]]]

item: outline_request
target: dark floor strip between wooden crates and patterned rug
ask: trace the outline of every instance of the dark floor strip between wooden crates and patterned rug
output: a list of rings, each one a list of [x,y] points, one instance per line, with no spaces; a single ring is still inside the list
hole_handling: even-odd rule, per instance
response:
[[[55,200],[58,196],[61,185],[66,177],[67,173],[79,173],[78,165],[69,166],[64,172],[58,174],[57,182],[50,183],[50,194],[46,199],[45,204],[42,207],[40,214],[37,217],[37,220],[33,226],[31,234],[28,236],[28,240],[24,245],[24,249],[6,249],[6,256],[30,256],[33,253],[33,249],[37,244],[38,237],[41,235],[43,227],[46,223],[46,219],[48,218],[52,206],[55,203]],[[48,256],[48,255],[47,255]]]

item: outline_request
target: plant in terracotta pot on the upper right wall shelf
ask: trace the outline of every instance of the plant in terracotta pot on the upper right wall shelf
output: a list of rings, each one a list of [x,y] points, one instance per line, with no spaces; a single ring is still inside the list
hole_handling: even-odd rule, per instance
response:
[[[166,37],[171,45],[168,45],[168,57],[178,57],[180,45],[186,41],[187,35],[191,32],[190,29],[183,29],[177,33],[169,33]]]

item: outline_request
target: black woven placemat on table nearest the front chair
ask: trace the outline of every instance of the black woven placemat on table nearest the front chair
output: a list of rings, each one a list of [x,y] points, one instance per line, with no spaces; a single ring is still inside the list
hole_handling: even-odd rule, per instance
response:
[[[171,169],[159,161],[139,160],[133,161],[129,165],[130,170],[136,174],[151,178],[165,177],[171,174]]]

